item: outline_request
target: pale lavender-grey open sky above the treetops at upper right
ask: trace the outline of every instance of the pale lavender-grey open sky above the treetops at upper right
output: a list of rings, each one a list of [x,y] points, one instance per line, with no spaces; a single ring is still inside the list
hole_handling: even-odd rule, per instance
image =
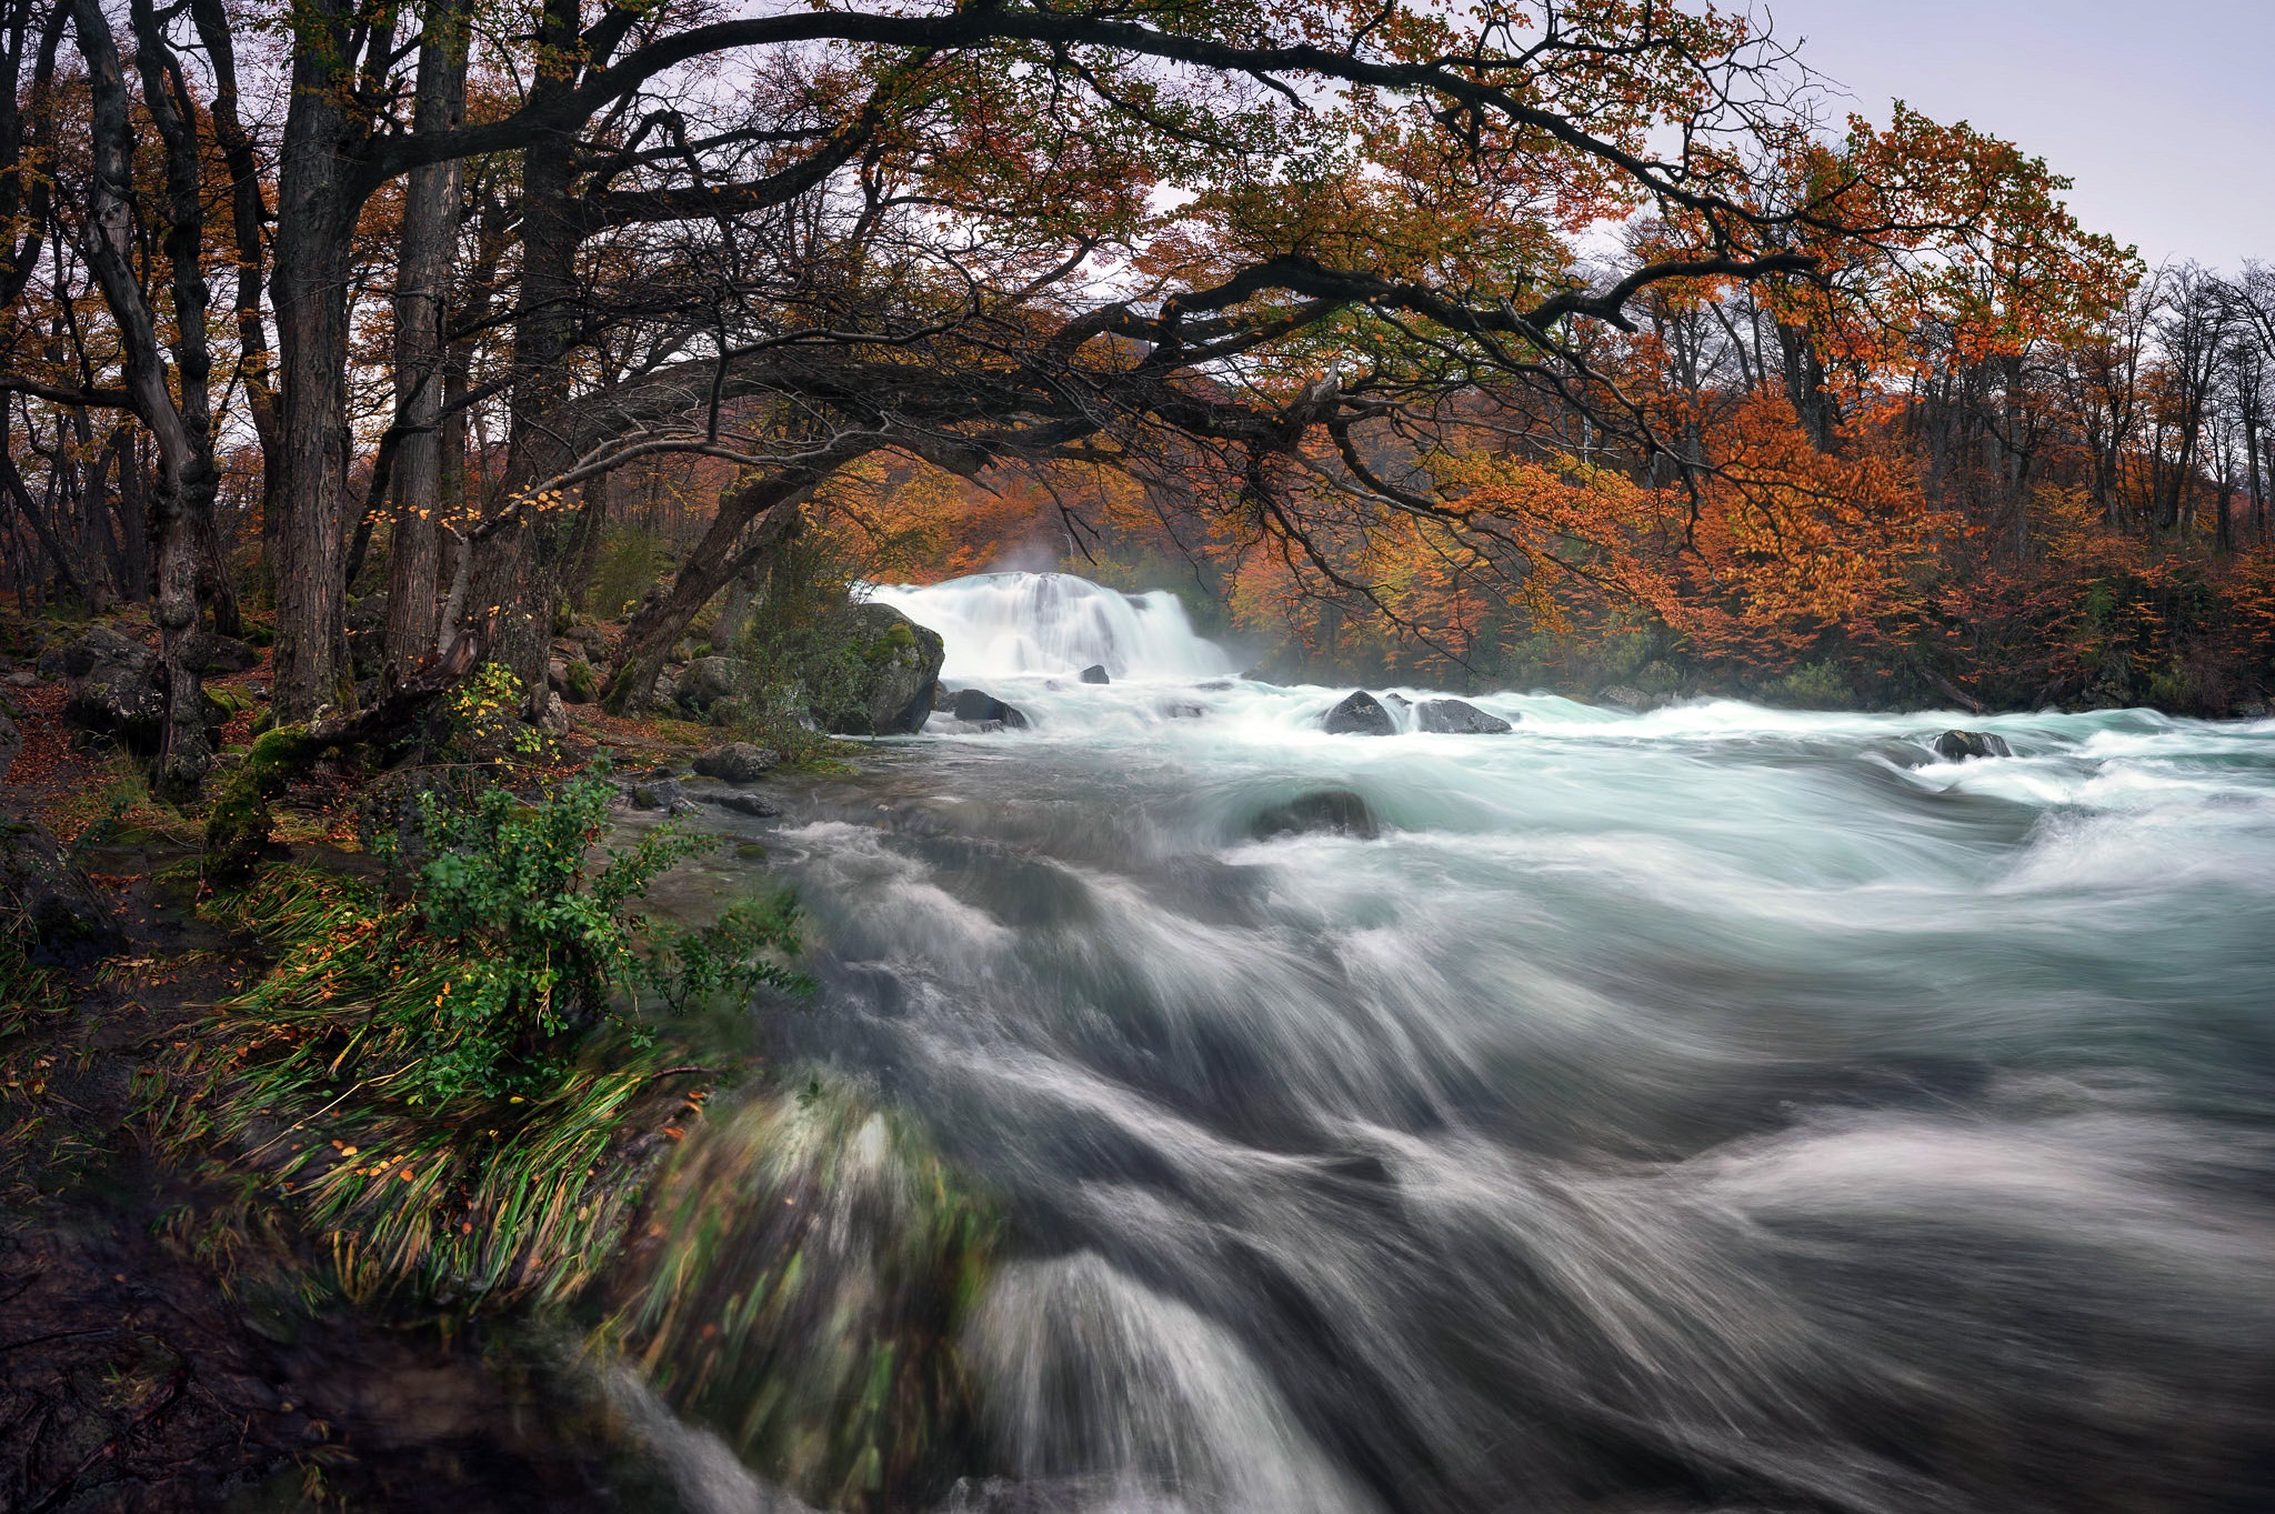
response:
[[[1745,0],[1724,0],[1745,9]],[[1879,123],[1970,120],[2150,264],[2275,261],[2275,0],[1754,0]]]

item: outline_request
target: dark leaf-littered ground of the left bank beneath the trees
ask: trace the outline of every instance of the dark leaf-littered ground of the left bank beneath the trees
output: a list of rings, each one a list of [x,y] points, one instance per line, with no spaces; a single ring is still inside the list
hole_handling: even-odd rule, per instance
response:
[[[23,746],[0,816],[71,848],[125,948],[50,971],[46,1005],[0,1005],[0,1509],[626,1507],[646,1473],[541,1341],[280,1284],[314,1273],[305,1241],[246,1203],[250,1178],[232,1187],[168,1146],[152,1089],[266,959],[200,914],[196,821],[141,796],[127,757],[75,746],[59,684],[9,673],[0,662]],[[578,716],[578,752],[664,755],[694,732]],[[250,712],[225,732],[248,739]],[[366,864],[353,789],[325,773],[287,798],[293,862]]]

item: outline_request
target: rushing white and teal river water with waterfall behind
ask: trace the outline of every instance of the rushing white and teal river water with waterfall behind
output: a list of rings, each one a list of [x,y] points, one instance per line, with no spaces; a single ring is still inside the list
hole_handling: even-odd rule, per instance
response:
[[[1169,596],[878,598],[1031,727],[769,848],[796,1050],[1008,1205],[987,1498],[2275,1507],[2275,723],[1329,737]],[[1251,839],[1320,789],[1381,834]]]

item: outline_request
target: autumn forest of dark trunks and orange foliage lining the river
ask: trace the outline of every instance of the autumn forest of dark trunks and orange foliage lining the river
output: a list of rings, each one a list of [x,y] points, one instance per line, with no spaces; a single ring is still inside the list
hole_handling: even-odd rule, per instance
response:
[[[273,641],[278,721],[539,689],[646,561],[596,607],[637,709],[810,521],[842,582],[1140,552],[1283,657],[1467,682],[2266,693],[2275,273],[2143,268],[2027,145],[1843,118],[1740,16],[5,36],[0,573],[146,607],[173,791],[202,637]]]

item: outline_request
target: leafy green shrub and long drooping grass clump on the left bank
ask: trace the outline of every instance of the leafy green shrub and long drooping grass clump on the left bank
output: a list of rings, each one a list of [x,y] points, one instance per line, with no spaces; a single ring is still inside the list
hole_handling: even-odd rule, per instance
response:
[[[280,1180],[350,1298],[562,1300],[639,1207],[648,1148],[698,1096],[644,1014],[771,987],[805,993],[787,893],[705,927],[635,912],[701,839],[673,825],[596,850],[612,784],[487,787],[414,805],[407,898],[266,868],[209,912],[278,953],[187,1053],[162,1128]],[[685,1084],[680,1084],[685,1087]],[[667,1130],[678,1134],[678,1130]]]

